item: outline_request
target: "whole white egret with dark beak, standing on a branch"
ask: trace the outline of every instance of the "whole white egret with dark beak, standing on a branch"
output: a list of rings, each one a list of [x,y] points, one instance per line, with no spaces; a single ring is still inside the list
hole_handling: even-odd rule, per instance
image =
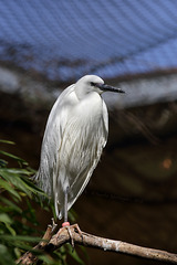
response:
[[[56,216],[67,222],[67,211],[85,189],[108,134],[104,91],[124,93],[85,75],[61,93],[50,113],[35,180],[54,199]]]

